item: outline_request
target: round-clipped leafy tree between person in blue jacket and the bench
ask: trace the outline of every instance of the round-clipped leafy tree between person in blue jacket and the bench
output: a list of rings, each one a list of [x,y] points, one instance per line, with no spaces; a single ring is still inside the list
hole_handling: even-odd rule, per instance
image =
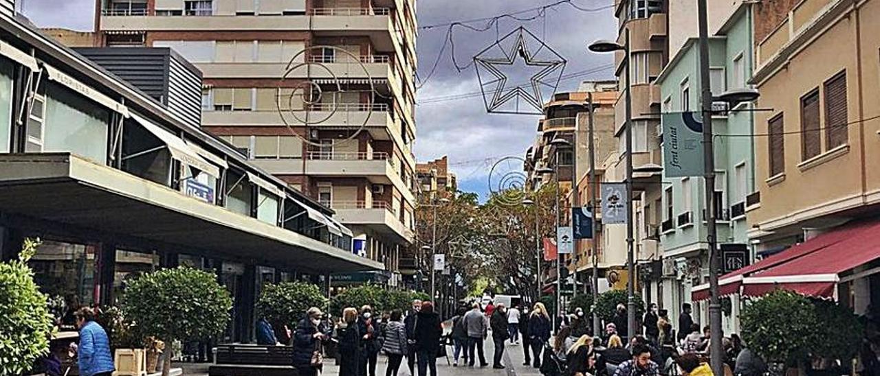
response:
[[[141,275],[128,284],[122,301],[144,335],[165,343],[223,333],[232,309],[230,294],[217,284],[216,275],[187,266]],[[162,375],[170,369],[166,356]]]

